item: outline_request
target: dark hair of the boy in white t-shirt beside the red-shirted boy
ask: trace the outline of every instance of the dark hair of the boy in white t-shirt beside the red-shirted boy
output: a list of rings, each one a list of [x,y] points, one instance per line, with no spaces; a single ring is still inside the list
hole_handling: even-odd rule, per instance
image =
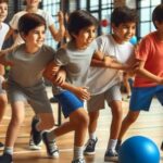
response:
[[[111,23],[118,26],[122,23],[137,22],[137,12],[135,9],[127,7],[117,7],[111,14]]]

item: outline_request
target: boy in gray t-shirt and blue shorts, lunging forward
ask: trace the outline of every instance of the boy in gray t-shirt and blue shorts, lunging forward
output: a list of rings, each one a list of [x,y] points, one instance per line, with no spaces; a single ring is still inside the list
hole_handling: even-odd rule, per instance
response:
[[[96,28],[97,20],[88,12],[78,10],[71,13],[67,30],[72,40],[66,47],[59,49],[54,61],[49,64],[46,71],[46,76],[52,80],[52,76],[54,75],[53,70],[63,66],[66,71],[67,82],[73,85],[73,87],[70,88],[72,92],[53,87],[53,93],[62,105],[64,116],[70,117],[70,122],[62,124],[50,133],[46,131],[42,134],[48,150],[48,141],[75,130],[74,159],[72,163],[85,163],[83,146],[88,127],[88,114],[84,110],[83,101],[89,99],[86,80],[91,58],[93,57],[98,60],[103,59],[104,62],[100,64],[103,64],[103,66],[122,66],[122,64],[114,63],[114,60],[109,57],[103,58],[103,54],[98,51],[98,46],[93,41]],[[83,93],[80,93],[80,91]]]

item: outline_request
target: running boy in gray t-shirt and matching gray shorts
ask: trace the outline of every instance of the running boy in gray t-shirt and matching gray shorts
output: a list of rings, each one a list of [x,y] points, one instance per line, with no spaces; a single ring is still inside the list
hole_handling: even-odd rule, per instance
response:
[[[38,14],[25,14],[20,18],[18,32],[25,43],[13,50],[0,52],[0,62],[12,65],[8,79],[8,96],[12,108],[12,118],[7,131],[4,153],[0,156],[1,163],[12,162],[13,147],[24,120],[25,102],[28,102],[35,113],[42,120],[37,126],[33,124],[35,136],[40,135],[42,129],[49,129],[54,125],[52,109],[42,78],[45,67],[53,60],[55,54],[52,48],[43,45],[46,21]],[[51,147],[49,156],[59,156],[54,142],[49,143]]]

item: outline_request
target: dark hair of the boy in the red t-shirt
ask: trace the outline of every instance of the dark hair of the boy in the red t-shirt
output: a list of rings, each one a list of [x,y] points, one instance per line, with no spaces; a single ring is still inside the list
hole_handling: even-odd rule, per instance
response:
[[[159,4],[153,10],[152,22],[153,22],[154,26],[155,26],[155,21],[158,21],[159,23],[163,22],[163,4]],[[156,28],[156,26],[155,26],[155,28]]]

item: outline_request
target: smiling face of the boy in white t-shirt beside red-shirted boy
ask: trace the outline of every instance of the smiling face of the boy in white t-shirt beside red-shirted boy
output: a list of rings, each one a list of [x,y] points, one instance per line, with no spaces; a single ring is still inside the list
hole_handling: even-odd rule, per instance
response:
[[[113,24],[112,28],[118,42],[129,41],[129,39],[135,35],[136,23],[122,23],[118,26]]]

